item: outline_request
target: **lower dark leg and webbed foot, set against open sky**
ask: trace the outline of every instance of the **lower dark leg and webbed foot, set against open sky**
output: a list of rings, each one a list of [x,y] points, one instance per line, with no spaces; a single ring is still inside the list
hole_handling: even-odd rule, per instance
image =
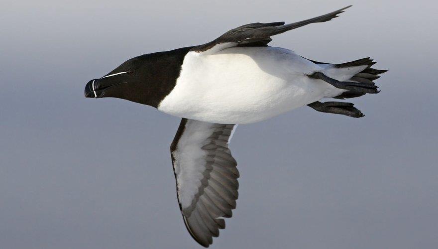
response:
[[[361,118],[363,115],[359,110],[353,107],[352,103],[345,102],[314,102],[308,105],[309,107],[323,113],[342,114],[348,117]]]

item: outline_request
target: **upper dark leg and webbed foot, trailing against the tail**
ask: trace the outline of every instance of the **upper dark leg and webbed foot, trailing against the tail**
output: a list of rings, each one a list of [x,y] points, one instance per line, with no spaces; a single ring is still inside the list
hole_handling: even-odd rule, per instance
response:
[[[335,88],[344,89],[344,90],[351,90],[361,93],[379,93],[380,91],[377,90],[377,86],[374,85],[374,83],[363,83],[363,82],[348,82],[348,81],[338,81],[333,78],[330,78],[329,76],[321,73],[321,72],[315,72],[309,77],[323,80],[330,85],[332,85]]]

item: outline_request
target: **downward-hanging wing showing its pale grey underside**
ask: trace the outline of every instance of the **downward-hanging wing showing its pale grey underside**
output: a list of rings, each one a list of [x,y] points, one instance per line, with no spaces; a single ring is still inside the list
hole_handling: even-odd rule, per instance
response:
[[[170,146],[178,202],[190,235],[209,247],[236,208],[239,171],[228,143],[235,124],[182,119]]]

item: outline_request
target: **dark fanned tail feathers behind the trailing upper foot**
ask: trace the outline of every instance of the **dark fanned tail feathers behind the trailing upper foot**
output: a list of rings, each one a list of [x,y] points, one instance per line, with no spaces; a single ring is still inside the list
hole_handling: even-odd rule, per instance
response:
[[[350,61],[350,62],[346,62],[346,63],[342,63],[342,64],[335,64],[335,67],[348,68],[348,67],[357,67],[357,66],[367,66],[367,68],[365,68],[361,72],[359,72],[359,73],[355,74],[353,77],[351,77],[351,79],[349,81],[356,81],[356,82],[368,83],[368,84],[375,85],[373,80],[380,78],[380,76],[378,76],[379,74],[382,74],[382,73],[385,73],[388,71],[388,70],[378,70],[378,69],[371,68],[371,66],[376,64],[376,63],[377,62],[374,62],[372,59],[367,57],[367,58],[363,58],[363,59],[359,59],[359,60],[355,60],[355,61]],[[355,92],[355,91],[347,91],[347,92],[342,93],[339,96],[334,97],[334,99],[342,99],[343,100],[343,99],[360,97],[362,95],[365,95],[365,93]]]

